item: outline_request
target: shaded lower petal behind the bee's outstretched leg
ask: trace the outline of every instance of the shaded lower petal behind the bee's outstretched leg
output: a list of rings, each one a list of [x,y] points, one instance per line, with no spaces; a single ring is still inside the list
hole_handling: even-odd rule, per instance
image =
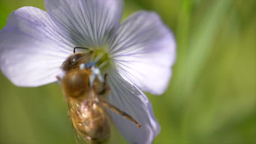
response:
[[[109,110],[120,132],[131,143],[152,143],[160,132],[160,125],[146,95],[126,82],[117,71],[112,70],[108,74],[107,83],[110,86],[110,94],[107,96],[109,103],[128,113],[142,125],[138,128],[135,123]]]

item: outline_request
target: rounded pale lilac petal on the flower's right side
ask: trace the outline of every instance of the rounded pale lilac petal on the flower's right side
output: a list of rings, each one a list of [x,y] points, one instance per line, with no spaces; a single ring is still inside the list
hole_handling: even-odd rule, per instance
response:
[[[109,52],[125,80],[153,94],[165,91],[176,48],[157,14],[142,11],[121,23]]]

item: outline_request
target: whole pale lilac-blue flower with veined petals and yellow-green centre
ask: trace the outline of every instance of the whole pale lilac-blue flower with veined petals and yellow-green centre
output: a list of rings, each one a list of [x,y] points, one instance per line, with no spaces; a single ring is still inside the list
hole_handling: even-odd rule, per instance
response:
[[[73,48],[89,47],[107,62],[108,102],[142,125],[109,111],[118,129],[131,143],[152,143],[160,125],[141,89],[163,93],[176,56],[173,35],[160,17],[139,11],[120,24],[121,0],[45,0],[45,7],[48,12],[23,7],[9,15],[0,32],[3,74],[17,86],[55,82]]]

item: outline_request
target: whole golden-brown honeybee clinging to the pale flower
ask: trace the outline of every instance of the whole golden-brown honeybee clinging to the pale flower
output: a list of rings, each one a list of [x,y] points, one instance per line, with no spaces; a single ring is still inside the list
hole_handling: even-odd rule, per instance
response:
[[[110,88],[107,85],[107,74],[104,78],[100,69],[90,64],[92,51],[77,52],[63,62],[61,69],[65,72],[62,78],[57,76],[66,97],[69,117],[74,129],[75,140],[81,139],[89,143],[107,142],[110,136],[110,118],[106,108],[130,119],[141,128],[141,125],[129,114],[107,103],[105,97]],[[109,95],[110,96],[110,95]]]

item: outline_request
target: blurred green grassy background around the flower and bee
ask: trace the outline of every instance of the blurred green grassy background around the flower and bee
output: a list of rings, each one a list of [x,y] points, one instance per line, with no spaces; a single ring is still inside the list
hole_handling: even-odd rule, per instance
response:
[[[43,0],[1,0],[11,11]],[[147,94],[161,125],[153,143],[256,143],[256,1],[125,1],[124,18],[154,10],[177,40],[166,93]],[[0,73],[0,143],[75,143],[56,83],[14,86]],[[127,143],[114,128],[110,143]]]

